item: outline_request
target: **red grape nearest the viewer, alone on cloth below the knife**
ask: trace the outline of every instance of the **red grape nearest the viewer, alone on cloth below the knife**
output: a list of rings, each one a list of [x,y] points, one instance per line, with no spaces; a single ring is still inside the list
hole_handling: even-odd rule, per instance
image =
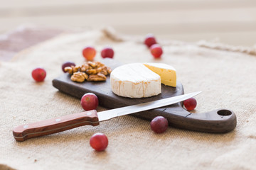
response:
[[[103,133],[97,132],[90,138],[90,146],[96,151],[104,151],[107,145],[107,136]]]

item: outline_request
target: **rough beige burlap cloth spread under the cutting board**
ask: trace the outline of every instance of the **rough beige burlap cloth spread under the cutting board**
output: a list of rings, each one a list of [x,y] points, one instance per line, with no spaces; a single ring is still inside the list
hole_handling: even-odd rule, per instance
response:
[[[70,33],[23,50],[11,62],[1,62],[0,169],[255,169],[255,49],[159,40],[164,55],[154,60],[142,39],[106,30]],[[12,130],[17,125],[82,111],[80,99],[60,93],[52,80],[63,74],[63,62],[85,61],[81,55],[85,45],[96,47],[96,60],[100,60],[100,50],[111,45],[114,59],[122,63],[171,64],[186,93],[203,91],[196,96],[198,106],[193,113],[228,108],[237,115],[237,127],[225,134],[170,127],[156,135],[149,121],[125,115],[97,127],[16,142]],[[45,81],[33,81],[35,67],[46,69]],[[95,132],[107,135],[105,152],[90,147]]]

